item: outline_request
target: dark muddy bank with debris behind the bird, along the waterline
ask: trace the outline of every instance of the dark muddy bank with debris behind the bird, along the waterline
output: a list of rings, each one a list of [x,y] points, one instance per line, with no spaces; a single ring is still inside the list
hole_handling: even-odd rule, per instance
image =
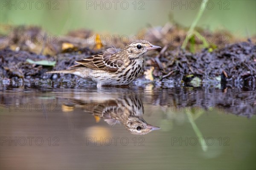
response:
[[[167,26],[165,26],[167,27]],[[204,86],[204,87],[244,87],[256,88],[256,44],[252,40],[231,43],[218,41],[203,45],[204,42],[188,42],[186,49],[181,49],[179,38],[171,39],[173,34],[186,34],[181,28],[148,29],[143,32],[143,38],[154,45],[162,46],[161,51],[145,54],[144,73],[135,84],[154,83],[156,86]],[[167,30],[163,33],[163,30]],[[155,32],[162,37],[156,37]],[[162,31],[162,32],[161,32]],[[15,28],[9,35],[1,35],[0,48],[0,84],[23,87],[38,85],[43,87],[79,88],[95,85],[73,75],[45,74],[46,71],[63,70],[75,64],[76,60],[89,57],[104,51],[114,45],[124,46],[120,40],[116,43],[104,44],[100,39],[87,41],[91,31],[73,31],[67,36],[54,39],[58,43],[38,43],[28,40],[21,43],[21,35],[47,36],[45,31],[37,27]],[[165,37],[163,36],[165,35]],[[202,30],[200,34],[209,32]],[[212,33],[214,36],[224,36],[224,33]],[[226,34],[227,35],[227,34]],[[17,37],[17,40],[9,40]],[[33,36],[32,36],[33,37]],[[173,37],[172,37],[173,38]],[[114,42],[114,41],[113,41]],[[201,46],[200,46],[201,45]],[[202,46],[203,45],[203,46]],[[33,47],[33,48],[32,48]],[[193,47],[193,48],[192,48]],[[35,63],[29,62],[35,61]],[[37,61],[49,61],[38,64]],[[54,62],[54,63],[53,63]]]

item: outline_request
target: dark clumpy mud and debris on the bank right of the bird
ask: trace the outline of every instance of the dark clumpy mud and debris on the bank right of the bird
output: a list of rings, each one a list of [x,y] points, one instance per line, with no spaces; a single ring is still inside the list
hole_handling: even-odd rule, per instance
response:
[[[194,77],[199,77],[207,85],[209,80],[218,81],[216,78],[220,76],[219,83],[232,87],[256,88],[256,45],[252,42],[238,42],[212,52],[203,49],[195,54],[179,48],[166,50],[159,57],[160,63],[164,63],[162,69],[158,67],[155,59],[146,59],[151,60],[146,63],[154,65],[155,77],[172,73],[168,78],[178,82],[180,79],[190,82]]]

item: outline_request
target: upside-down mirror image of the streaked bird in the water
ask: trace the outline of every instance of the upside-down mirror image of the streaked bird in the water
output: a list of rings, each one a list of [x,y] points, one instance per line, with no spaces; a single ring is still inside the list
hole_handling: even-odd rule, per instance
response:
[[[121,123],[132,134],[145,135],[160,127],[149,125],[143,119],[143,102],[134,93],[125,93],[114,98],[109,96],[98,101],[85,102],[81,99],[70,99],[76,108],[104,119],[109,125]]]

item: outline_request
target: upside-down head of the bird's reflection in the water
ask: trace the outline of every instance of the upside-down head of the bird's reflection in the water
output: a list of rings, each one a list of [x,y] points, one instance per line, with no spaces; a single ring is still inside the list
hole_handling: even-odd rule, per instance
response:
[[[160,129],[160,127],[148,125],[142,117],[129,117],[124,126],[134,135],[145,135],[152,130]]]

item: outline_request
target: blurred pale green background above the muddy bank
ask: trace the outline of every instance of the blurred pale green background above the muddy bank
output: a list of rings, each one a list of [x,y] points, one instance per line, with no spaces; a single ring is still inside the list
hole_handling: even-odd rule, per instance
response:
[[[1,25],[41,26],[51,34],[86,28],[129,35],[169,21],[189,27],[201,8],[201,1],[0,0],[0,5]],[[211,0],[197,26],[212,31],[227,29],[239,37],[255,35],[256,1]]]

